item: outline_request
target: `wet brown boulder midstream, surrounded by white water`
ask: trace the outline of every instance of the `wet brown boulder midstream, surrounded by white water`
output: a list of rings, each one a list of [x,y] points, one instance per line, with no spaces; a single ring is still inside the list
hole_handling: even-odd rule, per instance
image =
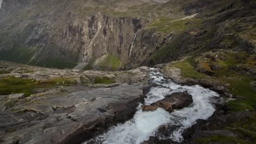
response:
[[[152,105],[161,107],[166,111],[172,112],[174,109],[182,109],[193,103],[192,95],[188,92],[177,92],[167,95],[166,98],[156,101]]]

